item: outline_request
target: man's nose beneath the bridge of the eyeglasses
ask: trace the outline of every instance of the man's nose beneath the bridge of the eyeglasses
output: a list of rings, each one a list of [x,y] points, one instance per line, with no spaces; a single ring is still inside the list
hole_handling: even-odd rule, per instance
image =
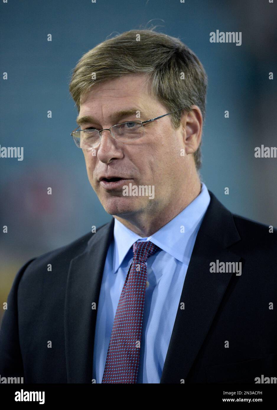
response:
[[[103,130],[100,135],[100,143],[97,151],[99,161],[108,164],[112,159],[120,159],[122,157],[122,143],[114,139],[110,130]]]

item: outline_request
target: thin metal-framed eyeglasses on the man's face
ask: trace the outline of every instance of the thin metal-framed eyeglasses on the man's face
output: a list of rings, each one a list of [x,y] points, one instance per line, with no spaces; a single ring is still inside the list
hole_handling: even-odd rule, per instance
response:
[[[119,142],[128,143],[136,139],[144,137],[144,127],[143,124],[150,123],[157,120],[158,118],[165,117],[166,115],[172,114],[173,112],[179,111],[182,108],[176,109],[175,111],[169,112],[168,114],[160,115],[156,118],[151,118],[147,121],[128,121],[125,123],[120,123],[112,125],[110,128],[103,128],[103,130],[96,130],[93,127],[86,128],[85,130],[78,130],[77,127],[71,132],[71,136],[78,148],[89,149],[97,148],[101,140],[102,131],[110,131],[112,137]]]

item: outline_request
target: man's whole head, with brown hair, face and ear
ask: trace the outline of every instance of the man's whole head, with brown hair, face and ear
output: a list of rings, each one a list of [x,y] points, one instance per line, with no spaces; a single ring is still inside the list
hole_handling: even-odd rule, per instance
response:
[[[103,131],[96,155],[83,150],[89,182],[106,212],[126,219],[165,212],[178,203],[176,195],[196,181],[206,82],[204,68],[191,50],[178,39],[151,30],[123,33],[80,59],[70,92],[78,118],[94,118],[82,123],[82,130],[143,122],[181,108],[145,124],[140,139],[125,144]],[[133,115],[112,118],[131,108]],[[100,182],[103,175],[124,177],[128,185],[154,186],[155,196],[123,196],[122,186],[108,190]]]

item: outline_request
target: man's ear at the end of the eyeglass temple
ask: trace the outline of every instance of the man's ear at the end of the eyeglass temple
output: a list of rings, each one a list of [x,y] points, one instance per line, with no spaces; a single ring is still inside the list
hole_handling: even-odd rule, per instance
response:
[[[182,116],[181,123],[184,131],[185,153],[193,154],[199,147],[202,135],[203,117],[200,108],[192,105],[191,110]]]

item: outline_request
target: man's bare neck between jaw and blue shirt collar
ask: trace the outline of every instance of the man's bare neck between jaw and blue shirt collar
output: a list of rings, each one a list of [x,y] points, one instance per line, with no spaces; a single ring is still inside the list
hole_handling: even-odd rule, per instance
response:
[[[183,192],[183,195],[180,195],[179,198],[176,198],[175,195],[166,206],[155,210],[155,212],[137,212],[132,215],[124,215],[124,218],[117,215],[113,216],[135,234],[141,237],[149,237],[175,218],[200,194],[201,182],[199,176],[197,175],[193,184],[190,182],[184,190],[180,189],[180,192]]]

